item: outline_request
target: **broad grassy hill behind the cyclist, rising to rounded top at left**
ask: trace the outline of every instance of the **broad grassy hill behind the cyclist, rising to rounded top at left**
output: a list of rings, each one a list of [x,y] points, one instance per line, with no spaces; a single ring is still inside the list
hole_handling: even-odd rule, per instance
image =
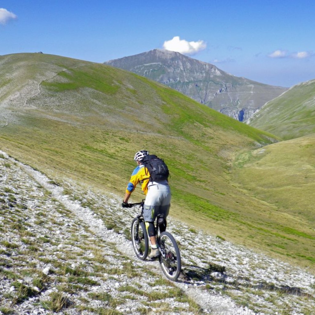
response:
[[[29,80],[24,85],[37,80],[41,93],[29,92],[25,105],[24,99],[10,103],[16,120],[0,128],[2,150],[49,176],[123,196],[135,166],[132,157],[147,148],[170,167],[172,215],[226,239],[308,263],[300,256],[307,258],[310,247],[314,252],[314,232],[307,231],[312,238],[301,234],[309,223],[301,226],[298,215],[261,202],[232,179],[232,169],[242,165],[233,167],[233,157],[268,143],[269,134],[109,66],[42,54],[4,58],[0,71],[23,69]],[[2,87],[8,95],[16,91],[10,84]],[[139,191],[134,201],[142,197]],[[300,233],[292,235],[292,230]],[[308,245],[297,251],[305,239]]]

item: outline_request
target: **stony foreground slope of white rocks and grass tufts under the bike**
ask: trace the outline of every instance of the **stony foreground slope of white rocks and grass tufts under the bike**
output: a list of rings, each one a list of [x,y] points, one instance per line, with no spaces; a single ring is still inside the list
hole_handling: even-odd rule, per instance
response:
[[[0,314],[315,313],[315,277],[168,220],[176,283],[130,241],[121,197],[49,179],[0,152]]]

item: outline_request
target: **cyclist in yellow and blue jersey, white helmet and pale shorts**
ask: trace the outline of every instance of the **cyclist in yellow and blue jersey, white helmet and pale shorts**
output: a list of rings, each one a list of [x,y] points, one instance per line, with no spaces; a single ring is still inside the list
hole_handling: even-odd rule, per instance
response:
[[[165,219],[165,226],[160,226],[160,231],[162,228],[166,229],[166,217],[169,214],[169,207],[171,201],[171,192],[169,188],[169,183],[167,180],[161,181],[150,181],[150,174],[148,169],[141,163],[141,160],[149,155],[146,150],[139,151],[135,154],[134,160],[137,163],[137,167],[134,169],[130,181],[127,185],[125,196],[123,199],[122,207],[128,208],[128,200],[131,193],[135,190],[137,184],[141,184],[141,189],[146,195],[144,202],[144,220],[146,223],[146,229],[150,239],[151,253],[149,258],[158,257],[160,251],[157,249],[156,244],[156,233],[154,227],[154,220],[158,214],[163,214]]]

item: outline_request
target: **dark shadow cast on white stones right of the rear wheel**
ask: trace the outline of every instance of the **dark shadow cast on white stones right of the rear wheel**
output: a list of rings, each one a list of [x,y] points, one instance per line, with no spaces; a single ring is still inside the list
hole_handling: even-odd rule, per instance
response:
[[[208,285],[207,289],[215,289],[215,287],[212,287],[211,284],[223,284],[225,285],[225,289],[259,289],[313,298],[312,295],[303,292],[303,290],[299,287],[291,287],[289,285],[276,286],[275,284],[267,283],[265,281],[254,284],[249,277],[242,276],[233,278],[233,276],[228,276],[226,274],[225,266],[216,264],[209,264],[208,268],[195,265],[184,265],[182,266],[180,278],[177,281],[187,284],[193,283],[197,286],[206,284]]]

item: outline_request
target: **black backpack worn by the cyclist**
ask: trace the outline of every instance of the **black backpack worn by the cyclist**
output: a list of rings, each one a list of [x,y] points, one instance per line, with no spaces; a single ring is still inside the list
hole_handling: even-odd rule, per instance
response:
[[[154,154],[146,155],[141,163],[148,169],[150,173],[149,181],[167,180],[169,177],[169,169],[165,162]]]

